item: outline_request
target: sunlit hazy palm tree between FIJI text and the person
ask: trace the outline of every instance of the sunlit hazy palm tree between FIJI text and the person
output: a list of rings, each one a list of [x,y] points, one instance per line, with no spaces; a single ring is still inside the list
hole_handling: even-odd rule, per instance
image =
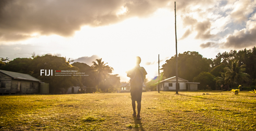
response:
[[[93,61],[92,67],[94,68],[94,70],[97,72],[97,75],[98,75],[97,77],[98,77],[98,90],[99,90],[100,83],[106,80],[107,75],[109,73],[112,73],[113,68],[106,65],[108,63],[104,63],[104,61],[102,61],[102,58],[96,59],[96,61],[97,63]]]

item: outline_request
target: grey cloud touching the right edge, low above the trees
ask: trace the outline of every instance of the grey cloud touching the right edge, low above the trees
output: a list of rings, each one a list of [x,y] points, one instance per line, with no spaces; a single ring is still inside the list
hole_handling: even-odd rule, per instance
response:
[[[250,31],[239,31],[226,38],[224,48],[245,48],[256,45],[256,27]]]

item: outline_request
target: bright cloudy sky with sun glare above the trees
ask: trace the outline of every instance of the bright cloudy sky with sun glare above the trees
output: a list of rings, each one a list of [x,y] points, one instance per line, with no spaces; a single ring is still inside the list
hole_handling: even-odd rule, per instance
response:
[[[121,81],[141,57],[149,80],[176,54],[174,0],[0,0],[0,57],[32,53],[113,67]],[[176,0],[178,53],[256,45],[256,1]]]

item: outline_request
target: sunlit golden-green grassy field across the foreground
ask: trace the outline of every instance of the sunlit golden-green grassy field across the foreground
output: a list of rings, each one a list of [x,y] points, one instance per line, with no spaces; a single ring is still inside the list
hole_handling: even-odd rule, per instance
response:
[[[174,93],[143,92],[142,120],[132,117],[130,93],[0,96],[0,130],[256,130],[252,93]]]

